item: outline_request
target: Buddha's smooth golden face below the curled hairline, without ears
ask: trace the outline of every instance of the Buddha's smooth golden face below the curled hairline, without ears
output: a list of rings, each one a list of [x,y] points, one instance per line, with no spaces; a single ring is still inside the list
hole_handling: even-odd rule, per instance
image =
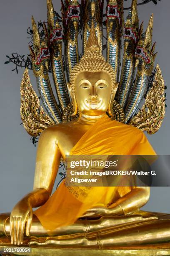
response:
[[[75,100],[80,113],[106,113],[112,97],[112,80],[106,72],[80,72],[75,79]]]

